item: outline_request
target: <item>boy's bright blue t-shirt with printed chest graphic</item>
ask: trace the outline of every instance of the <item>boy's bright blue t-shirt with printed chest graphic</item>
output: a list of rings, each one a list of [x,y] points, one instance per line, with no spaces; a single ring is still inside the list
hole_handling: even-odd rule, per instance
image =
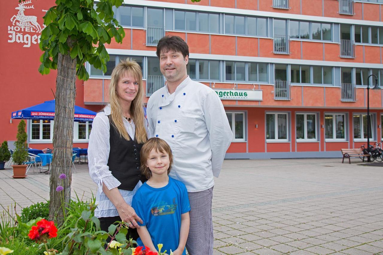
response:
[[[190,211],[188,192],[185,185],[169,177],[169,183],[162,188],[153,188],[145,182],[133,197],[132,207],[144,222],[154,247],[163,244],[161,251],[170,253],[180,242],[181,214]],[[141,238],[137,244],[143,246]],[[186,249],[183,250],[186,255]]]

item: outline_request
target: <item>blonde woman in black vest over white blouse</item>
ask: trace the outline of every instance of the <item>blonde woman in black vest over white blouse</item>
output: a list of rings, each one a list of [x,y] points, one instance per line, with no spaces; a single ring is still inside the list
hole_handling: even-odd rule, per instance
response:
[[[142,98],[142,71],[136,61],[116,65],[109,86],[110,104],[97,113],[89,138],[90,177],[97,183],[97,209],[101,230],[115,221],[129,226],[137,239],[137,221],[131,207],[133,195],[146,178],[140,172],[140,150],[147,140],[147,121]]]

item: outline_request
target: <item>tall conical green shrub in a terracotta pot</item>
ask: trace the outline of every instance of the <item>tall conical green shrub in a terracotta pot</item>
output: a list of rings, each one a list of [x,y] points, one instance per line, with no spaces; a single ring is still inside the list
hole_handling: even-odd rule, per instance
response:
[[[20,121],[17,126],[17,136],[15,142],[15,150],[13,151],[13,162],[16,165],[12,165],[13,167],[13,178],[25,178],[27,165],[23,165],[23,163],[28,158],[28,150],[26,144],[27,135],[25,132],[25,121]]]

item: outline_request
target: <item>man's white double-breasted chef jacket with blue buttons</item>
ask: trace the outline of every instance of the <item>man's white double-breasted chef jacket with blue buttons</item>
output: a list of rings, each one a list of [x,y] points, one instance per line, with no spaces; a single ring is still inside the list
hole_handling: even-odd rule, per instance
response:
[[[172,149],[170,176],[189,192],[214,186],[233,134],[214,90],[189,76],[170,94],[167,86],[147,103],[149,136],[164,139]]]

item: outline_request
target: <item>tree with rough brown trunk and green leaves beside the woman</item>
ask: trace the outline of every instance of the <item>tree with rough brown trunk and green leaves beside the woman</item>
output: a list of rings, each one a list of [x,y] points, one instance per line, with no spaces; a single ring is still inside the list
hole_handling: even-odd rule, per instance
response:
[[[44,53],[39,72],[49,74],[50,69],[57,69],[49,220],[54,220],[58,226],[65,215],[57,215],[57,212],[63,212],[62,208],[70,200],[76,77],[89,78],[85,62],[106,72],[109,55],[104,44],[109,44],[113,37],[117,43],[122,43],[125,36],[112,10],[122,3],[123,0],[100,0],[95,6],[93,0],[56,0],[56,5],[44,16],[46,27],[40,41]],[[63,181],[64,190],[60,192],[64,192],[64,196],[56,191],[61,173],[67,175],[60,181],[60,185]]]

